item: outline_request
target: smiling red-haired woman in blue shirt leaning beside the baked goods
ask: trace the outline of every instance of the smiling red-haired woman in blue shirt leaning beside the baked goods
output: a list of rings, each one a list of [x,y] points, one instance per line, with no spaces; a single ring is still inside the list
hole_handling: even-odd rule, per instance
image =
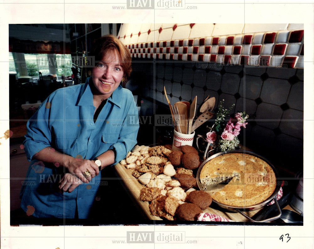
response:
[[[88,218],[100,170],[136,144],[138,110],[120,86],[132,70],[130,52],[107,35],[92,56],[92,77],[51,93],[27,123],[24,146],[32,161],[20,196],[22,209],[35,217]]]

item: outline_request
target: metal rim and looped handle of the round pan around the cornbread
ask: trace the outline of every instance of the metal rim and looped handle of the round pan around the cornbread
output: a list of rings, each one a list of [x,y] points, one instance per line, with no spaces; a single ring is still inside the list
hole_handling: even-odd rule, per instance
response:
[[[268,165],[273,169],[273,172],[275,173],[275,176],[276,176],[276,183],[277,183],[277,179],[279,177],[278,175],[278,171],[277,169],[273,166],[272,163],[270,163],[266,158],[264,158],[263,156],[260,156],[254,152],[251,152],[251,151],[244,151],[244,150],[231,150],[231,151],[223,151],[223,152],[219,152],[217,154],[214,154],[213,156],[210,156],[208,157],[201,165],[200,167],[198,168],[198,172],[197,172],[197,175],[196,175],[196,181],[197,181],[197,184],[198,184],[198,187],[200,190],[203,190],[203,191],[206,191],[206,186],[207,185],[204,185],[201,183],[200,179],[199,179],[199,175],[200,175],[200,172],[203,168],[203,166],[208,162],[210,161],[211,159],[217,157],[217,156],[220,156],[220,155],[223,155],[223,154],[230,154],[230,153],[242,153],[242,154],[248,154],[248,155],[252,155],[252,156],[256,156],[260,159],[262,159],[263,161],[267,162]],[[279,192],[279,189],[280,189],[280,184],[276,184],[276,188],[273,192],[273,194],[268,197],[266,200],[264,200],[263,202],[261,203],[258,203],[258,204],[255,204],[255,205],[252,205],[252,206],[245,206],[245,207],[240,207],[240,206],[230,206],[230,205],[226,205],[226,204],[223,204],[223,203],[219,203],[217,201],[215,201],[214,199],[212,200],[214,203],[216,203],[217,205],[219,205],[220,207],[222,208],[225,208],[225,209],[228,209],[228,210],[231,210],[231,211],[237,211],[239,213],[241,213],[241,215],[244,215],[246,218],[248,218],[249,220],[251,221],[254,221],[254,222],[266,222],[266,221],[270,221],[270,220],[275,220],[275,219],[278,219],[280,218],[281,216],[281,210],[280,210],[280,207],[277,203],[277,200],[276,200],[276,196]],[[247,211],[252,211],[252,210],[257,210],[257,209],[261,209],[263,208],[264,206],[266,206],[269,202],[272,201],[272,199],[274,199],[275,201],[275,204],[277,205],[277,209],[279,209],[279,215],[275,216],[275,217],[272,217],[270,219],[267,219],[267,220],[261,220],[261,221],[256,221],[256,220],[252,220],[250,217],[248,217],[247,215],[245,215],[243,212],[247,212]]]

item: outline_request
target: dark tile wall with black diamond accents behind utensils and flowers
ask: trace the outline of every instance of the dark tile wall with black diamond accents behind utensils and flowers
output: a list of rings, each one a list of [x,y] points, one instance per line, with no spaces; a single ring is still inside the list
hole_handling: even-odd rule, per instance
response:
[[[141,68],[145,67],[137,65],[136,70]],[[158,65],[154,64],[154,68],[155,75],[154,70],[147,72],[142,69],[154,80],[142,83],[143,87],[139,89],[143,96],[154,98],[166,106],[162,94],[165,86],[171,104],[191,101],[197,95],[199,108],[204,98],[210,96],[216,98],[216,109],[224,99],[226,108],[235,104],[232,112],[244,110],[250,115],[248,129],[245,130],[245,137],[251,143],[248,146],[279,151],[294,160],[298,157],[303,159],[303,69],[189,61],[165,64],[161,60]]]

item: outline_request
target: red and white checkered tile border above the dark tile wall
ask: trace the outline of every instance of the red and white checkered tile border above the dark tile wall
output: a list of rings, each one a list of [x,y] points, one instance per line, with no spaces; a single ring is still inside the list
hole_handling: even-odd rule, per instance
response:
[[[139,28],[144,31],[144,24]],[[160,24],[147,24],[158,27]],[[172,27],[170,27],[173,25]],[[180,24],[178,24],[180,25]],[[136,35],[135,43],[125,44],[130,50],[134,58],[154,58],[162,60],[178,60],[178,61],[205,61],[216,62],[231,65],[251,65],[251,66],[273,66],[273,67],[288,67],[288,68],[303,68],[304,57],[304,29],[296,30],[279,30],[265,31],[257,33],[242,33],[232,35],[217,35],[207,37],[195,37],[188,39],[175,39],[175,31],[179,27],[177,24],[168,24],[166,35],[161,38],[170,40],[160,40],[160,35],[157,41],[143,37],[146,42],[140,41],[142,32],[139,31]],[[189,24],[192,33],[195,24]],[[139,25],[140,26],[140,25]],[[181,25],[185,27],[186,25]],[[290,25],[289,25],[290,26]],[[162,24],[158,30],[161,34],[165,29],[165,24]],[[291,27],[298,27],[296,25]],[[134,30],[134,28],[133,28]],[[123,25],[120,28],[119,34],[123,32]],[[118,38],[124,41],[131,41],[124,36]],[[150,29],[143,34],[151,34]],[[195,32],[194,32],[195,33]],[[211,34],[213,34],[212,32]],[[217,32],[216,32],[217,33]],[[199,33],[201,34],[201,33]],[[156,37],[157,35],[154,34]],[[194,34],[195,36],[195,34]],[[130,34],[132,39],[133,33]],[[179,37],[176,35],[176,37]],[[191,37],[191,35],[190,35]],[[151,41],[149,41],[151,40]]]

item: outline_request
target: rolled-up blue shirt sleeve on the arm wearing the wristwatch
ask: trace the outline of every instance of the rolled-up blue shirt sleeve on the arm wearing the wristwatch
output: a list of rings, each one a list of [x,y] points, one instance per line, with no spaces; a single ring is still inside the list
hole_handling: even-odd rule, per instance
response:
[[[124,159],[125,156],[127,155],[127,152],[131,151],[132,148],[136,145],[138,129],[139,129],[138,109],[132,96],[132,100],[127,111],[126,118],[122,123],[119,138],[117,142],[114,145],[110,146],[109,148],[115,151],[116,157],[114,164]]]

